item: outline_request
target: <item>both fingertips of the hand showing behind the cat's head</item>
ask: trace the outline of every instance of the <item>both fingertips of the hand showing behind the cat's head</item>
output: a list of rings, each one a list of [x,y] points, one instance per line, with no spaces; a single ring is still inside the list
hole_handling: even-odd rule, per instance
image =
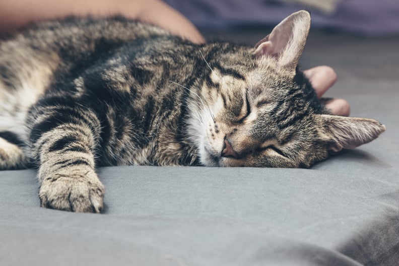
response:
[[[323,94],[337,81],[337,74],[329,66],[321,65],[305,70],[305,76],[309,79],[316,91],[317,97],[325,104],[325,107],[335,115],[348,116],[351,112],[349,103],[344,99],[323,99]]]

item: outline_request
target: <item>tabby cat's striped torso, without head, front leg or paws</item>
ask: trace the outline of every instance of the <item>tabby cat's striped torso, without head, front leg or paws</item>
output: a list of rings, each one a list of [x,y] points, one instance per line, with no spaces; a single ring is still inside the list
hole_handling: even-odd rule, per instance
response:
[[[4,43],[0,55],[0,131],[34,145],[41,134],[35,130],[63,122],[57,115],[87,112],[98,118],[87,117],[93,127],[101,128],[95,144],[100,165],[195,163],[196,151],[181,136],[187,92],[169,82],[194,82],[198,74],[184,66],[195,63],[187,56],[195,45],[122,18],[48,22],[18,37]],[[44,125],[38,113],[54,105],[59,109]],[[173,126],[165,125],[168,120]],[[158,142],[167,149],[157,149]]]

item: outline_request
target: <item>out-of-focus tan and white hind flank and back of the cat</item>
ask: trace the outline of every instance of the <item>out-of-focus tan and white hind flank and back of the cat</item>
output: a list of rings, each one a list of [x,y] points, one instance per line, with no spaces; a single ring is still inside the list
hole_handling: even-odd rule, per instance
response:
[[[22,136],[26,114],[61,77],[138,40],[169,34],[122,17],[38,23],[0,41],[0,131]]]

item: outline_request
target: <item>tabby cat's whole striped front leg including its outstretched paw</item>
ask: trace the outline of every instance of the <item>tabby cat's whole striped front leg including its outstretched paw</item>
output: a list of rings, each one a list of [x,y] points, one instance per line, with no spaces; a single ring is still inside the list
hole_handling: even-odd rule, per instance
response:
[[[42,207],[100,213],[104,186],[95,172],[100,121],[88,109],[38,107],[29,121]]]

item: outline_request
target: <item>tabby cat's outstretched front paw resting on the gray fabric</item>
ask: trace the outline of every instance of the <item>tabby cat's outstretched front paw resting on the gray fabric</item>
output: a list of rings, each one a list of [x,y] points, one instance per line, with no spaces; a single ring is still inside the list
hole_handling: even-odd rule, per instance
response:
[[[80,212],[100,213],[103,209],[104,186],[90,169],[74,169],[54,173],[43,179],[39,197],[41,207]]]

